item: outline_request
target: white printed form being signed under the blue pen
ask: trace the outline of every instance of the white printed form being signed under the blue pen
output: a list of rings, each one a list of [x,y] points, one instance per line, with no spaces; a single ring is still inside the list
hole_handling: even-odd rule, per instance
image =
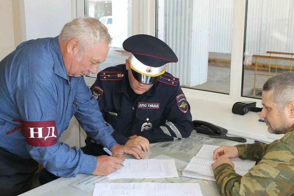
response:
[[[175,160],[126,159],[124,167],[109,174],[108,179],[178,177]]]

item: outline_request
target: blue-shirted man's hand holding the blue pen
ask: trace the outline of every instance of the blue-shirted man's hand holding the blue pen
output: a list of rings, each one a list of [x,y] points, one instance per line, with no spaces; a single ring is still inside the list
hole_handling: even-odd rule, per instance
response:
[[[97,165],[96,169],[92,173],[93,175],[108,175],[111,172],[121,169],[121,164],[123,163],[123,160],[107,155],[101,155],[96,158]]]

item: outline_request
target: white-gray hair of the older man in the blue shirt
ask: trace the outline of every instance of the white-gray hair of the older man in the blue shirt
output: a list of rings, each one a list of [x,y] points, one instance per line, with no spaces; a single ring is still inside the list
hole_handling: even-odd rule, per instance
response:
[[[58,38],[61,42],[76,38],[80,44],[78,58],[83,56],[86,48],[91,48],[101,41],[107,43],[108,47],[111,45],[107,28],[94,18],[76,18],[66,23]]]

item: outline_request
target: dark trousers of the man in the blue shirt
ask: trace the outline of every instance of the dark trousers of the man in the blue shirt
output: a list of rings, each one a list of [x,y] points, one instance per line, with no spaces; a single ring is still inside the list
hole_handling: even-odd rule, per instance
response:
[[[19,195],[31,189],[38,163],[0,147],[0,195]]]

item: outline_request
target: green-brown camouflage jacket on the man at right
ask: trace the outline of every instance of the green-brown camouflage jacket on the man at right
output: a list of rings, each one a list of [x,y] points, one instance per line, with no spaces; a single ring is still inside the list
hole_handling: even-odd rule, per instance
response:
[[[239,158],[258,161],[244,176],[228,163],[214,170],[220,195],[294,195],[294,125],[280,140],[236,145]]]

